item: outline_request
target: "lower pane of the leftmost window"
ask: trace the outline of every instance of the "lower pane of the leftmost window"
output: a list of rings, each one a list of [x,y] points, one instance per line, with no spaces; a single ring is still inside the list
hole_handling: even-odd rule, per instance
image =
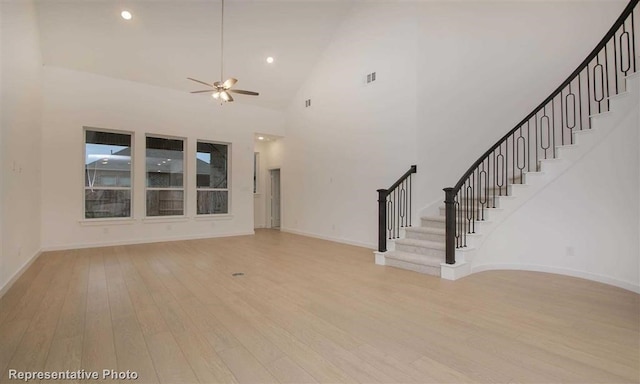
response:
[[[131,216],[130,190],[84,191],[86,219]]]

